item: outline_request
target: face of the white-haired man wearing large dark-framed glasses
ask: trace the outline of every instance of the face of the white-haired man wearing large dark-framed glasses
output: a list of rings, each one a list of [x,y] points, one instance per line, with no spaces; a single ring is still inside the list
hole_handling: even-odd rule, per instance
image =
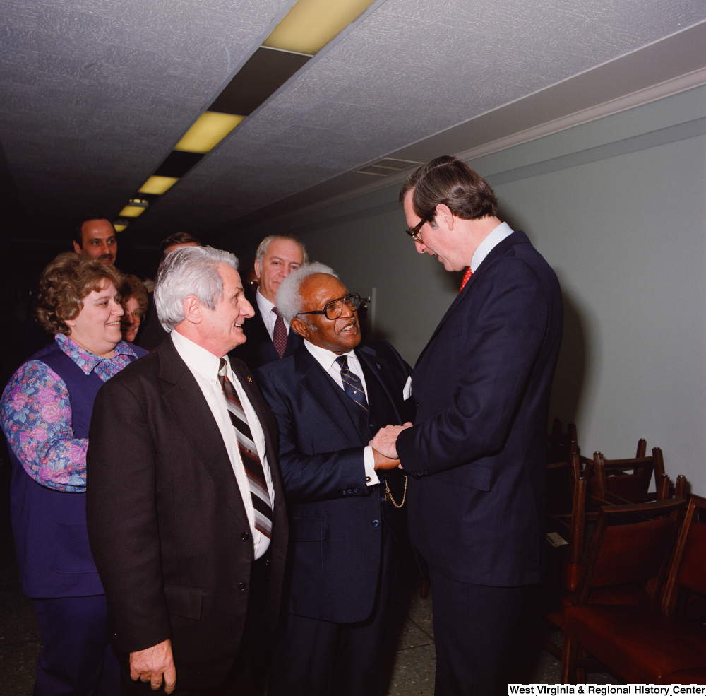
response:
[[[314,273],[301,281],[299,295],[304,300],[303,312],[323,309],[328,302],[348,294],[346,286],[328,273]],[[358,313],[342,304],[338,319],[327,319],[323,314],[301,314],[292,319],[292,329],[314,346],[343,355],[355,348],[361,339]]]

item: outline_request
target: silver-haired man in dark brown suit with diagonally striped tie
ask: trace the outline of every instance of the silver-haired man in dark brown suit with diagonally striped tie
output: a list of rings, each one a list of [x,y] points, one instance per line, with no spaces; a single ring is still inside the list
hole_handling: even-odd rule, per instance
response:
[[[155,302],[171,336],[95,401],[88,533],[123,693],[162,678],[167,693],[249,693],[277,620],[285,496],[273,415],[227,358],[253,314],[237,266],[211,247],[169,254]]]

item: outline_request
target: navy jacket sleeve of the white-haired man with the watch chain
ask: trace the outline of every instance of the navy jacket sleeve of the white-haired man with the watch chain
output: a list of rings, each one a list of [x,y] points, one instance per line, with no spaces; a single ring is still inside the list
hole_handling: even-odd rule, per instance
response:
[[[258,384],[277,419],[280,446],[280,472],[288,502],[314,502],[332,498],[369,495],[365,480],[364,447],[349,447],[332,452],[304,451],[301,442],[316,437],[318,423],[307,418],[277,389],[265,370],[258,370]]]

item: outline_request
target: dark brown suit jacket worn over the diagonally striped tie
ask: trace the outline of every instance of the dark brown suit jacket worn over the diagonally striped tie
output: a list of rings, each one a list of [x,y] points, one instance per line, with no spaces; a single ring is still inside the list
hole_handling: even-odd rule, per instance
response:
[[[245,507],[220,431],[174,343],[100,389],[87,455],[90,546],[122,653],[172,639],[179,688],[225,677],[238,650],[253,561]],[[287,549],[276,423],[247,367],[232,367],[265,433],[275,489],[267,620]]]

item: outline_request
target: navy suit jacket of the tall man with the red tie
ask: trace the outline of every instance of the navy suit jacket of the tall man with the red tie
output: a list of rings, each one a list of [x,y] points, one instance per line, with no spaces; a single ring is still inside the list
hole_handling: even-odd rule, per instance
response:
[[[429,565],[474,584],[538,582],[546,428],[563,309],[554,271],[524,232],[486,256],[414,368],[414,427],[397,454],[409,533]]]

